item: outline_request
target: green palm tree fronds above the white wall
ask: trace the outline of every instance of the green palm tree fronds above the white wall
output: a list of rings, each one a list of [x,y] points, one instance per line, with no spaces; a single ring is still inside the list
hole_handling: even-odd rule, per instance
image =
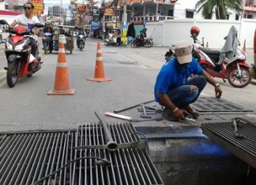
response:
[[[198,12],[201,10],[205,19],[211,19],[213,10],[215,10],[216,19],[224,20],[228,18],[228,9],[241,12],[242,2],[243,0],[199,0],[195,9]]]

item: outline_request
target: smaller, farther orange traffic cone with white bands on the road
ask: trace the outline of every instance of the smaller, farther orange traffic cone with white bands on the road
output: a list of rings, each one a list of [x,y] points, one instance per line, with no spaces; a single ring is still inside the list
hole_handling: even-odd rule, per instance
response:
[[[104,63],[101,54],[101,45],[100,43],[97,44],[97,54],[96,54],[96,65],[94,71],[94,77],[87,79],[96,82],[106,82],[111,81],[111,79],[107,79],[104,75]]]

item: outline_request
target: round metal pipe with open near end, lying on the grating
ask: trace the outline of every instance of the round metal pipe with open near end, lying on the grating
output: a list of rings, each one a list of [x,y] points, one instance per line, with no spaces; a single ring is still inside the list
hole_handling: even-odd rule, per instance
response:
[[[102,128],[104,130],[104,135],[106,135],[107,138],[107,150],[115,151],[117,150],[117,143],[113,140],[111,136],[111,132],[107,128],[107,123],[104,121],[104,119],[100,116],[99,113],[95,112],[96,117],[100,120],[100,124],[102,125]]]

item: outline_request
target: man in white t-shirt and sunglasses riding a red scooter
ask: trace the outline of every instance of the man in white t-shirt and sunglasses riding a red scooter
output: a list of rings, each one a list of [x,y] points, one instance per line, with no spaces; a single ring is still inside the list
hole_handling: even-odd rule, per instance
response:
[[[14,21],[12,24],[9,25],[9,28],[14,28],[16,25],[24,25],[25,27],[28,28],[28,31],[32,31],[34,35],[39,35],[40,34],[40,29],[39,28],[34,28],[34,24],[40,23],[40,20],[36,17],[33,16],[32,12],[35,6],[31,2],[26,2],[23,5],[24,8],[24,14],[18,15],[15,17]],[[35,60],[32,62],[32,68],[36,68],[36,66],[39,65],[39,61],[36,59],[36,53],[37,53],[37,43],[35,39],[30,38],[30,46],[32,46],[31,54],[35,57]]]

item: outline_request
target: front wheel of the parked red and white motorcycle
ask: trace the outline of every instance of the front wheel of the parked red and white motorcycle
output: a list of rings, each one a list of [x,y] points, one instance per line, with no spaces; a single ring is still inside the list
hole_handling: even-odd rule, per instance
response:
[[[231,68],[228,72],[228,83],[230,83],[232,87],[243,88],[246,87],[251,81],[249,69],[240,66],[240,70],[242,76],[239,76],[238,68]]]

